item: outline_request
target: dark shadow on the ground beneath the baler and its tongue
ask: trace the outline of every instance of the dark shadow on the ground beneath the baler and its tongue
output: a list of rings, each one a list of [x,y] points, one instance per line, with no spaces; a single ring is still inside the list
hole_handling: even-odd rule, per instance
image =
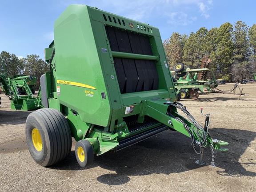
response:
[[[240,163],[240,157],[255,139],[256,132],[244,130],[212,128],[212,136],[219,140],[229,142],[228,152],[217,152],[216,172],[221,176],[256,176],[256,172],[246,170],[248,166],[256,166],[255,157],[248,158]],[[195,170],[205,172],[203,167],[211,164],[212,156],[210,148],[204,153],[204,166],[195,164],[199,159],[190,147],[190,139],[179,132],[170,130],[157,136],[144,140],[139,144],[125,148],[119,152],[107,152],[101,156],[95,156],[92,167],[101,167],[116,173],[101,175],[97,180],[104,184],[119,185],[130,180],[129,176],[150,175],[154,173],[170,174]],[[70,156],[51,169],[83,170],[72,151]],[[220,170],[221,169],[221,170]],[[224,171],[223,171],[224,169]]]

